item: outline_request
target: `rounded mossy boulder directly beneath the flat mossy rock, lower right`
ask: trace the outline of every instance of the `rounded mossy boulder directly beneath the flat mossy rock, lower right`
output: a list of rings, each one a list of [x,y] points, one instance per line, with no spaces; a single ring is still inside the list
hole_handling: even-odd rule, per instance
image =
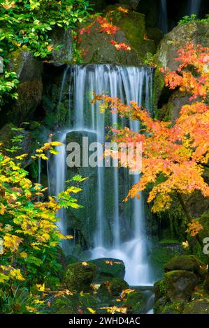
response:
[[[170,301],[188,301],[196,286],[197,278],[193,272],[175,270],[165,274],[165,283],[166,295]]]

